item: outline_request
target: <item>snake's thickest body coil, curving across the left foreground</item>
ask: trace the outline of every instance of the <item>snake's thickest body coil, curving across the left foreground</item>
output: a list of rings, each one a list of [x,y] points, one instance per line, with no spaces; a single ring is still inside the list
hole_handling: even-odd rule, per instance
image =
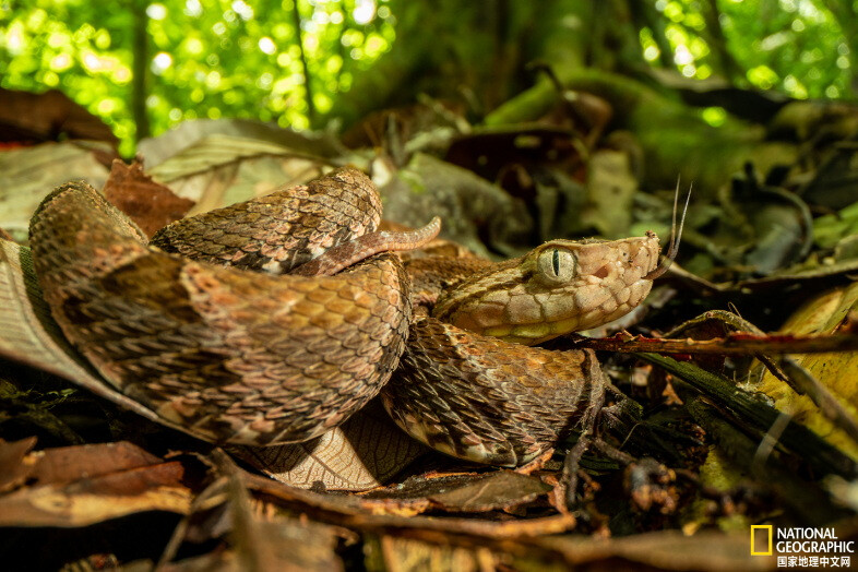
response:
[[[393,254],[312,278],[189,261],[147,248],[85,183],[45,200],[31,241],[72,344],[123,393],[208,441],[323,433],[378,393],[407,337],[408,281]]]

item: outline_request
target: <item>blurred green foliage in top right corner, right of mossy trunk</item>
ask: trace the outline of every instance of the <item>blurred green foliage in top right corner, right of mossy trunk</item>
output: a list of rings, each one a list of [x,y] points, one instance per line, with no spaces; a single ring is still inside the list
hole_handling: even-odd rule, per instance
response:
[[[739,87],[779,90],[791,97],[838,98],[851,96],[854,72],[849,46],[858,26],[856,0],[655,0],[664,16],[660,29],[670,58],[687,78],[705,80],[718,72]],[[712,37],[714,22],[707,7],[716,5],[723,38]],[[711,8],[708,8],[712,11]],[[843,14],[838,21],[837,14]],[[707,29],[710,28],[710,29]],[[710,33],[707,33],[710,32]],[[664,61],[659,41],[650,27],[641,31],[644,57]],[[724,45],[712,45],[723,41]],[[722,50],[735,67],[713,64]],[[722,60],[724,59],[724,55]]]

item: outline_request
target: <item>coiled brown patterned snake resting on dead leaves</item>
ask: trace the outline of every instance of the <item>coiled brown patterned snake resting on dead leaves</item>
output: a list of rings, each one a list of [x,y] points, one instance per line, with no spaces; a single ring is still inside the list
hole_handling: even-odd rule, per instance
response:
[[[75,349],[212,443],[307,441],[380,396],[437,451],[516,467],[592,419],[607,385],[595,354],[534,346],[640,305],[662,269],[654,233],[492,262],[433,254],[437,218],[381,230],[381,215],[372,181],[343,167],[147,240],[72,181],[36,208],[29,241]]]

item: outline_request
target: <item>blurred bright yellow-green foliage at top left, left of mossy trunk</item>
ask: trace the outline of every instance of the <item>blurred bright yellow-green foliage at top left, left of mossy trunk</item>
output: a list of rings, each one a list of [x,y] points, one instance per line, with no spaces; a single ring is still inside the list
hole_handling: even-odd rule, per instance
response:
[[[128,155],[136,135],[133,27],[142,17],[153,133],[202,117],[310,126],[293,0],[136,1],[0,2],[0,85],[61,88],[104,118]],[[385,1],[298,0],[318,114],[390,49],[395,20]]]

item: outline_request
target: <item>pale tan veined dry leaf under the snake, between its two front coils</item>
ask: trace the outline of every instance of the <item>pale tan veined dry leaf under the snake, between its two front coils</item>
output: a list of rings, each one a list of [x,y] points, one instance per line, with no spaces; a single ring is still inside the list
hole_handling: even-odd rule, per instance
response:
[[[306,443],[230,450],[281,482],[351,491],[388,482],[427,451],[393,425],[376,402],[342,426]]]

